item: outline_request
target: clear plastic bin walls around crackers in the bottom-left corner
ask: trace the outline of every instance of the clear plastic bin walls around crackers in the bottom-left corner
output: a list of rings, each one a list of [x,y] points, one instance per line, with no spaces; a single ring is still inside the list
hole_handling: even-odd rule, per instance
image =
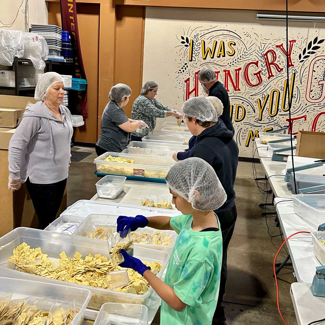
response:
[[[40,298],[36,303],[36,307],[59,307],[67,302],[75,303],[78,313],[72,319],[70,325],[80,325],[83,322],[84,314],[88,302],[91,297],[91,292],[86,288],[72,288],[67,285],[54,283],[41,283],[39,281],[30,281],[17,278],[3,277],[3,270],[0,267],[0,294],[12,294],[11,299],[24,299],[27,297]],[[17,271],[19,272],[19,271]],[[41,304],[41,305],[37,305]],[[46,310],[49,311],[49,310]]]

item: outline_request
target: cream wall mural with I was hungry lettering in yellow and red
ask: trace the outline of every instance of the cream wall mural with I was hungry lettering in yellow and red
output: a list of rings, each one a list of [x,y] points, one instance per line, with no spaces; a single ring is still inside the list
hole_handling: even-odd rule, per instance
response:
[[[152,27],[153,20],[149,19],[147,26],[146,19],[146,30]],[[178,21],[172,35],[161,24],[163,19],[155,24],[156,38],[168,52],[168,58],[173,59],[159,62],[169,82],[162,85],[162,96],[157,99],[175,106],[190,97],[206,95],[198,73],[203,68],[213,69],[230,96],[235,140],[241,157],[252,157],[253,139],[258,132],[289,125],[288,98],[292,100],[289,132],[325,131],[325,33],[322,29],[289,27],[287,54],[285,27],[261,26],[256,19],[251,24],[184,20],[183,28],[179,28]],[[146,46],[153,44],[148,42],[145,38],[144,80],[149,77],[145,70],[151,69]],[[157,79],[152,72],[149,75]],[[170,94],[177,95],[176,102],[171,102]]]

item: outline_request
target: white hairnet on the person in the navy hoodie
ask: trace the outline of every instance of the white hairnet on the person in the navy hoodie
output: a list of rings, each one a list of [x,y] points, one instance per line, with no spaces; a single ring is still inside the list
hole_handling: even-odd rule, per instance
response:
[[[189,98],[182,107],[183,113],[202,122],[218,122],[217,112],[206,97]]]

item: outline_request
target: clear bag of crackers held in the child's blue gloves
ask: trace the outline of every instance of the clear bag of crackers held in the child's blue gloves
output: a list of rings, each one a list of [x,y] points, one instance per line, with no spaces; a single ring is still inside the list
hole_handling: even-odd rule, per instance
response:
[[[108,235],[107,241],[113,266],[118,266],[124,262],[121,249],[124,249],[126,253],[133,256],[133,236],[131,235],[131,229],[113,232]]]

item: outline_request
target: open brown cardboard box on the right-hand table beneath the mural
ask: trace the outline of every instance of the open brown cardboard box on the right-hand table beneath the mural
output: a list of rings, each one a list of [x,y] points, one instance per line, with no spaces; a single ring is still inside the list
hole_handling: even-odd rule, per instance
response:
[[[325,159],[325,133],[299,131],[296,156]]]

